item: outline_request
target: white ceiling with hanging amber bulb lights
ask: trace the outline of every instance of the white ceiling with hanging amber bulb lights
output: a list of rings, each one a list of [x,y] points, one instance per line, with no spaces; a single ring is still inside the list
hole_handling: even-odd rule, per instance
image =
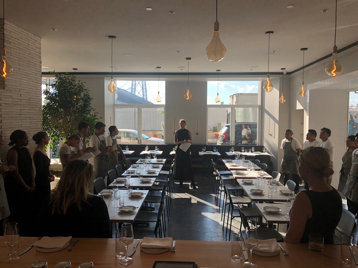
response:
[[[291,4],[295,7],[286,8]],[[177,68],[187,66],[186,57],[192,57],[190,72],[267,72],[265,32],[274,31],[273,73],[300,68],[300,48],[308,48],[305,64],[332,53],[334,9],[334,0],[219,0],[219,34],[227,48],[219,63],[205,55],[215,0],[5,0],[5,19],[42,38],[42,66],[49,67],[43,71],[110,72],[108,35],[115,35],[115,72],[156,72],[156,66],[161,72],[187,72]],[[338,49],[358,40],[357,11],[358,0],[338,0]]]

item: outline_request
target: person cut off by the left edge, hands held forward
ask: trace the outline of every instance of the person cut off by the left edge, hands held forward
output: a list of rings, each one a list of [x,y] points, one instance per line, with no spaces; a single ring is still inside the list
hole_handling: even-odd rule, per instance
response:
[[[0,148],[2,148],[4,144],[5,144],[5,139],[3,135],[0,134]],[[4,220],[10,215],[8,199],[6,198],[6,192],[4,187],[3,173],[7,171],[14,171],[14,170],[15,170],[15,166],[3,165],[0,159],[0,234],[4,233],[4,228],[3,228]]]

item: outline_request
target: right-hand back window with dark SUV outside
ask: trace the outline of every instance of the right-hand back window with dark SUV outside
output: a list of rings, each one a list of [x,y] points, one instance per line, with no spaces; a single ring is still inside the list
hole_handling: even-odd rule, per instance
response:
[[[258,144],[260,84],[260,81],[208,81],[208,144]],[[217,92],[219,103],[215,102]]]

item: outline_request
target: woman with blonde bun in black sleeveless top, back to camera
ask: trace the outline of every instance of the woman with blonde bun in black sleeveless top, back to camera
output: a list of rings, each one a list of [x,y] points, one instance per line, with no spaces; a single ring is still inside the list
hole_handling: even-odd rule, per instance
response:
[[[325,244],[333,244],[333,234],[342,215],[342,198],[325,178],[333,174],[328,152],[321,147],[303,149],[298,170],[310,189],[296,195],[290,212],[285,242],[308,243],[310,233],[319,233]]]

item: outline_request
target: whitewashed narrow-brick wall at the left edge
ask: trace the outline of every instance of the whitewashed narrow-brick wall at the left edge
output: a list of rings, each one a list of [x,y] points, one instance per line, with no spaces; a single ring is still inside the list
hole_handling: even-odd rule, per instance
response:
[[[0,19],[0,40],[2,34],[3,20]],[[2,40],[0,42],[2,49]],[[5,49],[14,71],[9,78],[0,78],[0,133],[5,137],[5,146],[0,149],[3,163],[6,163],[10,148],[7,144],[14,130],[26,131],[31,154],[36,147],[32,136],[42,130],[41,39],[5,20]]]

